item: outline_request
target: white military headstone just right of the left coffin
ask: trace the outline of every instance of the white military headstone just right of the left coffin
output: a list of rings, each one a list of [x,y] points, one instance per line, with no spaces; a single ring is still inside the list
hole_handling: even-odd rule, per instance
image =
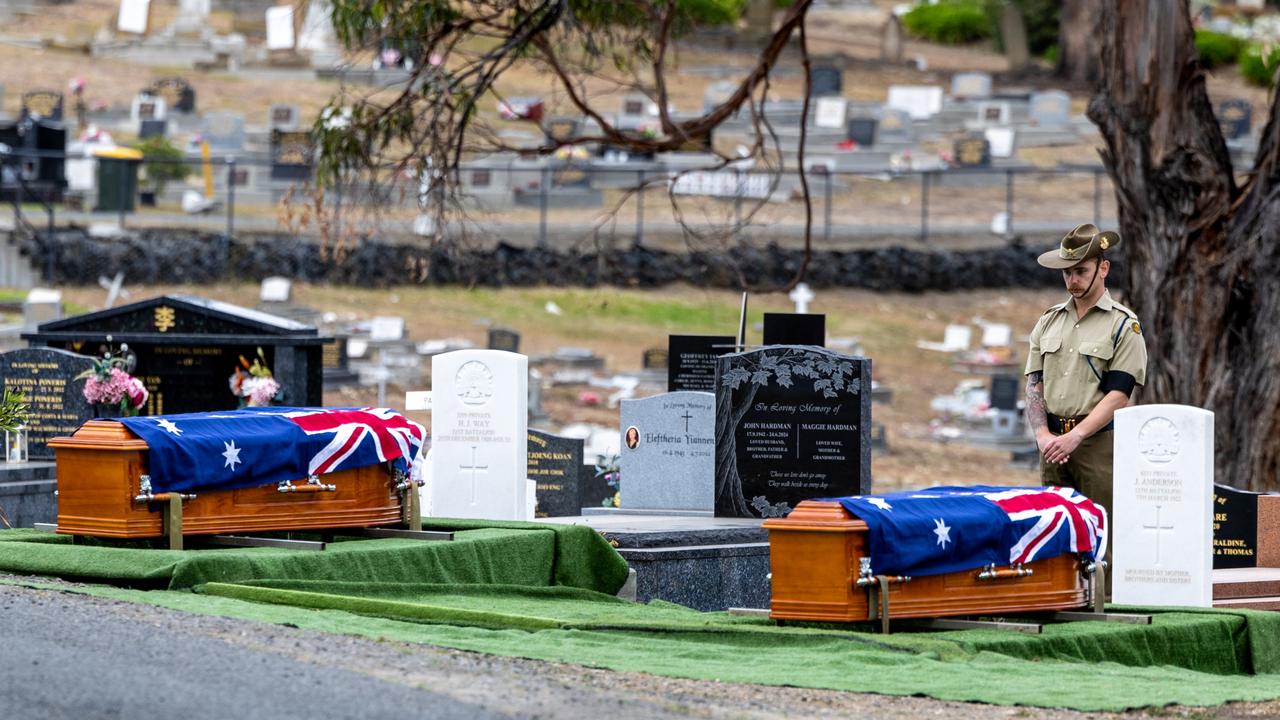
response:
[[[532,519],[529,357],[458,350],[431,357],[426,507],[438,518]]]

